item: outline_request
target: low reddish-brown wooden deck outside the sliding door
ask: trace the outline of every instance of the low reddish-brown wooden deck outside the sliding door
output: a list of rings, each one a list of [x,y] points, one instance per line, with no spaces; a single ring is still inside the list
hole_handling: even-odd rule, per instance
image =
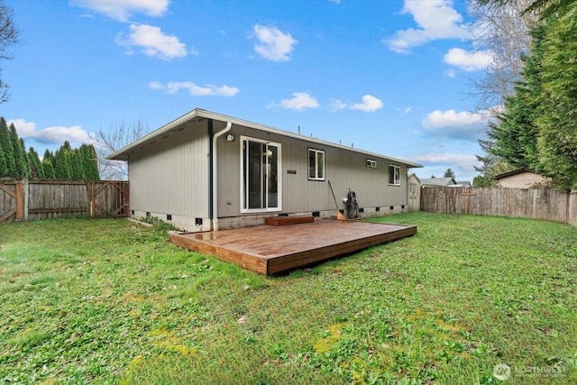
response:
[[[218,232],[172,234],[172,243],[264,274],[292,270],[417,233],[414,225],[316,219]]]

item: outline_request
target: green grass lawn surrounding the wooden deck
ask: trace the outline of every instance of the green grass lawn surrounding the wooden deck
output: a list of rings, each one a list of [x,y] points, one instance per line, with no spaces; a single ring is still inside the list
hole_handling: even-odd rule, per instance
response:
[[[577,228],[374,220],[418,232],[280,277],[124,219],[2,225],[0,381],[577,383]]]

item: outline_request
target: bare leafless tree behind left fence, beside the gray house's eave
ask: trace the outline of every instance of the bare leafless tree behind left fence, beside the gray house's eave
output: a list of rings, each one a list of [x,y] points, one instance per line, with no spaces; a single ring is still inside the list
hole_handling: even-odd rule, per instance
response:
[[[128,164],[123,160],[106,160],[106,157],[149,133],[148,124],[138,120],[128,125],[124,122],[111,124],[108,131],[100,129],[91,134],[96,142],[95,149],[98,156],[98,166],[101,179],[125,180],[128,179]]]

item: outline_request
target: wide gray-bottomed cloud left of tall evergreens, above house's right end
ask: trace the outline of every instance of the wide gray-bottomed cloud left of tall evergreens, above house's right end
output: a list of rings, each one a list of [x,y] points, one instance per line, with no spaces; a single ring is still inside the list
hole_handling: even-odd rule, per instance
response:
[[[485,136],[490,116],[488,111],[436,110],[427,114],[421,124],[427,133],[476,141]]]

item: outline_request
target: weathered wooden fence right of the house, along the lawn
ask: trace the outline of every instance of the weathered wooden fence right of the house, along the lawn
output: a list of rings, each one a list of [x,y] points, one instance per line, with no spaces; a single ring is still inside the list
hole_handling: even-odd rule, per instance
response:
[[[430,213],[520,216],[577,226],[577,191],[426,187],[420,207]]]

